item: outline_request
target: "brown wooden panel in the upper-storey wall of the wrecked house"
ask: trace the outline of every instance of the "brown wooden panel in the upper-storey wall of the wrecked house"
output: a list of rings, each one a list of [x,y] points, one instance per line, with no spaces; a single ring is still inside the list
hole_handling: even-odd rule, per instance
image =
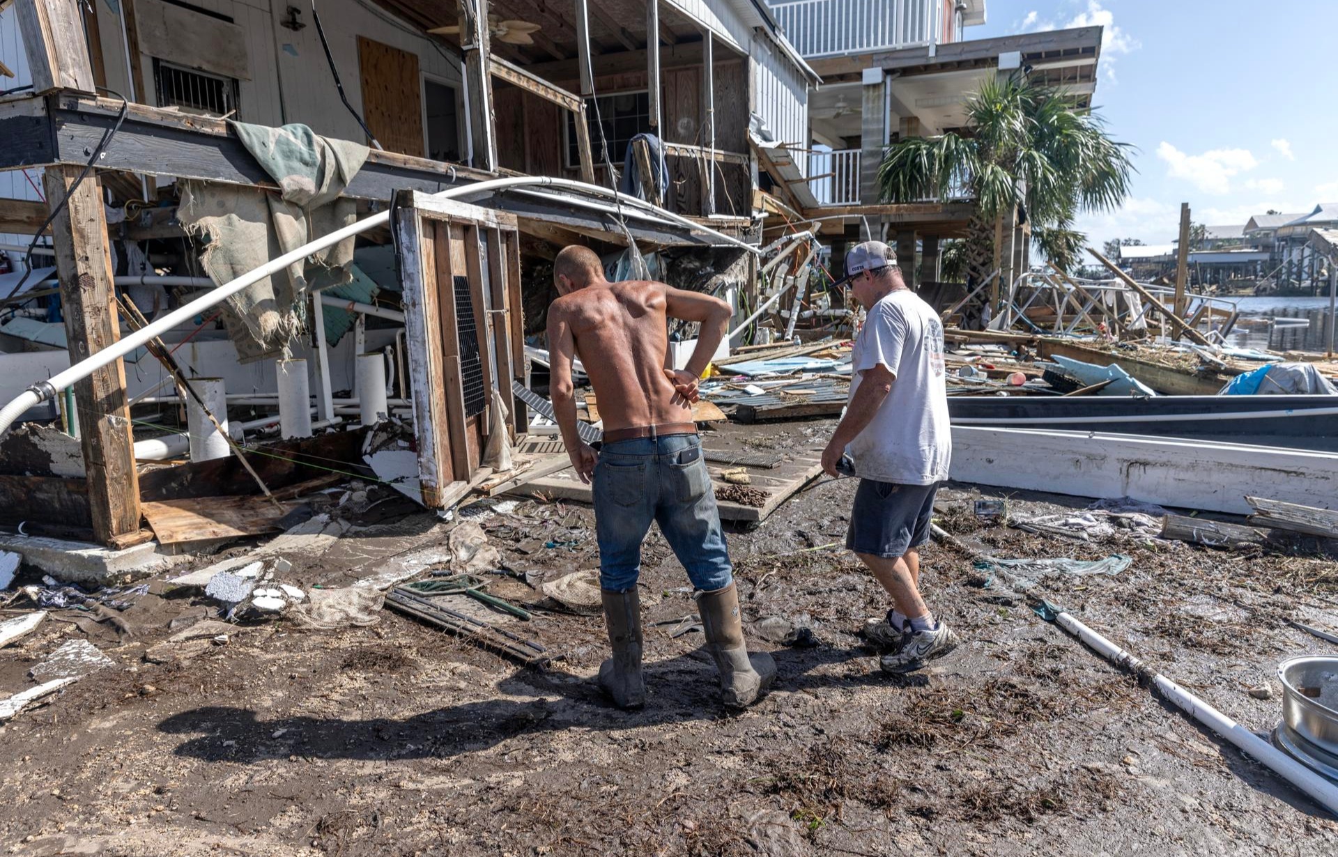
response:
[[[387,151],[424,156],[417,55],[357,37],[363,118]]]

